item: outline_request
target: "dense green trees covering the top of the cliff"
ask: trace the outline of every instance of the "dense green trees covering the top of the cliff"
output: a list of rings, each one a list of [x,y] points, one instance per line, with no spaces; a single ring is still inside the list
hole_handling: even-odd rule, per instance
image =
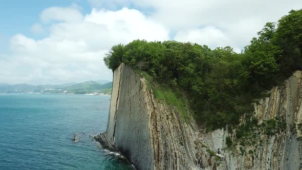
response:
[[[180,89],[208,130],[238,125],[252,117],[253,102],[302,70],[302,10],[267,23],[238,54],[231,47],[211,50],[191,42],[134,40],[116,45],[104,58],[115,70],[121,62],[144,71],[163,86]]]

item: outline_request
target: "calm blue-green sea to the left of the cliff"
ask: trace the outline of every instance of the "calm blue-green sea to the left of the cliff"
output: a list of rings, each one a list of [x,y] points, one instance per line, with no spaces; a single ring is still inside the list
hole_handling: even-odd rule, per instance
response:
[[[0,94],[0,169],[133,169],[89,137],[106,130],[109,99]]]

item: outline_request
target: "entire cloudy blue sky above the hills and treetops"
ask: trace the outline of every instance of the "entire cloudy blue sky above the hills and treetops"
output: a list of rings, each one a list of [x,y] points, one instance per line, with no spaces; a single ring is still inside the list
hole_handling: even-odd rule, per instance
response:
[[[112,80],[103,57],[134,39],[231,46],[300,0],[0,0],[0,83]]]

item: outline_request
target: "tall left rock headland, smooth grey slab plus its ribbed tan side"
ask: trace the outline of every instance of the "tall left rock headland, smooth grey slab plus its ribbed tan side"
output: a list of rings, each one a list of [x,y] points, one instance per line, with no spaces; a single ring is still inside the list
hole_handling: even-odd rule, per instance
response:
[[[107,131],[95,138],[103,148],[120,151],[137,169],[197,169],[197,134],[130,66],[115,70]]]

